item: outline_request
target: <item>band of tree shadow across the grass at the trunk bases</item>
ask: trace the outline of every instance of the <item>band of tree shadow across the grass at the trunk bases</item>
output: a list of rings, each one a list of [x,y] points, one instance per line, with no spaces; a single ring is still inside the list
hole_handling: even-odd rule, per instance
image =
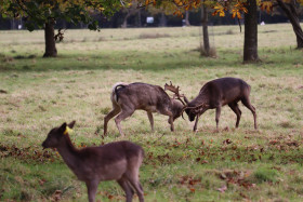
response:
[[[301,63],[300,51],[260,50],[261,63],[242,64],[238,50],[219,50],[218,58],[201,57],[197,51],[87,51],[85,53],[61,53],[56,58],[42,58],[30,53],[0,55],[0,71],[49,71],[49,70],[147,70],[215,68],[285,68]]]

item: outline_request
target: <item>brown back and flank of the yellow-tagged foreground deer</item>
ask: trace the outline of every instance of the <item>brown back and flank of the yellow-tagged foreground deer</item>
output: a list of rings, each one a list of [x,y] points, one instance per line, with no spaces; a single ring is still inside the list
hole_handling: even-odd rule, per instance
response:
[[[116,142],[100,147],[83,148],[79,150],[81,165],[75,174],[79,179],[94,177],[100,180],[119,179],[129,166],[140,166],[143,156],[143,149],[131,142]]]

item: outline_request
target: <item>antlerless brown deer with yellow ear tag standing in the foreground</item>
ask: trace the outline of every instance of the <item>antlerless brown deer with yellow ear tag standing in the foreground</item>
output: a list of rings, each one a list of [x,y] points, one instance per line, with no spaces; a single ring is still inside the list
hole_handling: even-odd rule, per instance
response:
[[[100,147],[76,149],[68,136],[75,121],[54,127],[43,142],[43,148],[56,148],[64,162],[79,180],[87,184],[89,201],[95,201],[100,181],[117,180],[132,201],[133,188],[140,202],[144,201],[143,189],[139,180],[139,169],[143,161],[143,149],[131,142],[116,142]]]

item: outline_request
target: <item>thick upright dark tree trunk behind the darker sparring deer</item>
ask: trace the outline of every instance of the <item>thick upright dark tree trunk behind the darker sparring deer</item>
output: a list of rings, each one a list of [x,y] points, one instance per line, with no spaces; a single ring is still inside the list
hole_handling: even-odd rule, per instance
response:
[[[256,1],[247,0],[248,13],[245,14],[243,60],[256,62],[258,56],[258,11]]]

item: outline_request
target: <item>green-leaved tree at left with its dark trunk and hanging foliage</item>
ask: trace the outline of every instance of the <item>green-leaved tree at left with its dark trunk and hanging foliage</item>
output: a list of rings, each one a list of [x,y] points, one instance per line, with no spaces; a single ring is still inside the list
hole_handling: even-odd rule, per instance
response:
[[[54,26],[57,19],[74,24],[84,23],[89,29],[96,30],[98,23],[92,17],[92,12],[97,11],[110,16],[121,6],[119,0],[1,0],[0,13],[3,17],[22,17],[29,31],[43,28],[45,38],[43,57],[55,57],[57,51]]]

